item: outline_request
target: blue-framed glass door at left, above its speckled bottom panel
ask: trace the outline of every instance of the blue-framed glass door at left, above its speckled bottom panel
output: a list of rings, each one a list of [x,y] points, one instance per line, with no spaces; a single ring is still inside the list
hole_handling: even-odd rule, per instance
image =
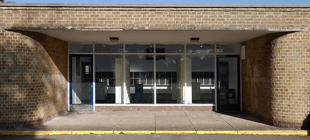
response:
[[[93,105],[93,56],[70,55],[70,105]]]

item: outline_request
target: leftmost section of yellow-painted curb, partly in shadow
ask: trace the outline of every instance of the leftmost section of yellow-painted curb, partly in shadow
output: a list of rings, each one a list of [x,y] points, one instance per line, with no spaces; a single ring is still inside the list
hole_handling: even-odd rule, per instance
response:
[[[0,131],[0,135],[68,135],[71,134],[71,131]]]

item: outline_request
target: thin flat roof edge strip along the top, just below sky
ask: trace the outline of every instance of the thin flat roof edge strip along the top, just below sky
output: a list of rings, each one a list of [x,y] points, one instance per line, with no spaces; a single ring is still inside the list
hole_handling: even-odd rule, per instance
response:
[[[179,7],[179,8],[310,8],[310,4],[93,4],[93,3],[0,3],[0,7]]]

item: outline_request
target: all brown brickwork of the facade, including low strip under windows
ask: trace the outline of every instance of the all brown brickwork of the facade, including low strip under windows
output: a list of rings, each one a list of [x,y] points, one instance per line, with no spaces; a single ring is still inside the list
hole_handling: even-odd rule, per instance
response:
[[[247,45],[248,58],[242,61],[241,90],[243,109],[267,124],[300,128],[310,111],[310,8],[3,6],[0,28],[305,30],[267,34],[242,43]],[[35,32],[17,32],[1,30],[0,36],[2,125],[35,122],[66,109],[67,43]],[[200,107],[166,110],[183,108]],[[96,107],[96,110],[124,109],[142,107]]]

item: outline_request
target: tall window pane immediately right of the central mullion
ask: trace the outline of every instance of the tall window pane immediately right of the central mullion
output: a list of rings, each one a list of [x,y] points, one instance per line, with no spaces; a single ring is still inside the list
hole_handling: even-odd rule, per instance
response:
[[[156,60],[156,103],[183,104],[184,55],[163,56]]]

